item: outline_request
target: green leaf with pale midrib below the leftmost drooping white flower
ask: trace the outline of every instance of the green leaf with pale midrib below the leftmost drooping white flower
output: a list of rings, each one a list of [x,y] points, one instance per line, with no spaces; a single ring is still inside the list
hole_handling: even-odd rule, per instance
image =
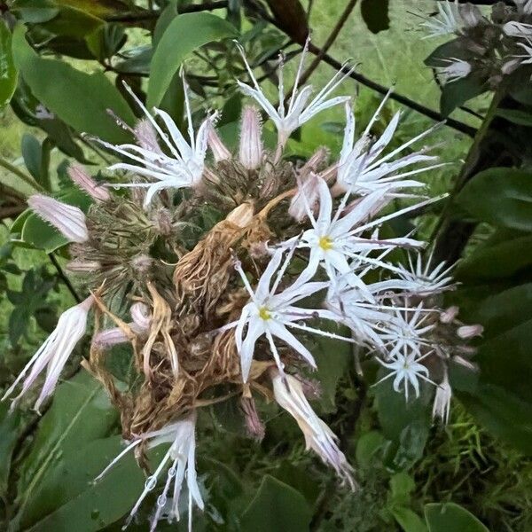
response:
[[[79,372],[58,387],[19,470],[20,511],[13,529],[34,522],[41,504],[35,493],[53,474],[59,459],[69,453],[77,454],[79,459],[83,446],[111,434],[116,423],[117,415],[105,390],[87,372]]]

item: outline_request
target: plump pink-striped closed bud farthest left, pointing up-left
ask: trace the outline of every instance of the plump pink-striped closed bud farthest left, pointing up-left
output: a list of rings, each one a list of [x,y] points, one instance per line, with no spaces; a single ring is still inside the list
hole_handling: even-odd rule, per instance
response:
[[[30,196],[27,205],[71,242],[82,244],[89,239],[85,215],[81,208],[66,205],[43,194]]]

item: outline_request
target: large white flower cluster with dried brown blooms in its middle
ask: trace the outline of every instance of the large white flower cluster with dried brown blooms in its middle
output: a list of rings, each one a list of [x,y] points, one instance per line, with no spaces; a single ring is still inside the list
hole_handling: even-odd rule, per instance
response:
[[[273,150],[264,146],[254,106],[243,110],[233,154],[215,129],[215,114],[194,132],[186,83],[187,136],[168,113],[150,113],[131,93],[145,113],[130,130],[136,143],[98,141],[121,157],[109,168],[111,186],[79,166],[70,169],[94,200],[89,211],[40,195],[29,201],[71,242],[69,270],[91,295],[59,318],[5,396],[22,381],[20,400],[46,371],[38,409],[94,310],[84,366],[109,391],[129,441],[111,465],[133,449],[145,464],[146,450],[169,443],[128,523],[165,470],[152,529],[160,518],[179,519],[185,481],[192,522],[192,504],[202,509],[207,496],[196,476],[196,420],[211,403],[235,397],[255,437],[264,432],[255,401],[275,400],[301,427],[307,448],[355,488],[336,436],[305,396],[305,372],[317,367],[311,335],[364,348],[368,364],[382,372],[377,384],[393,379],[406,399],[425,382],[434,386],[434,415],[442,419],[449,415],[451,361],[471,364],[464,344],[481,329],[458,322],[458,309],[440,307],[452,287],[450,270],[425,261],[415,235],[390,235],[390,221],[439,200],[421,196],[423,183],[414,178],[440,166],[419,145],[432,129],[392,146],[396,113],[375,136],[385,98],[356,138],[350,98],[332,97],[340,74],[310,99],[312,89],[298,87],[302,61],[287,107],[282,75],[278,108],[247,62],[252,85],[239,82],[277,129]],[[329,162],[320,149],[301,164],[285,160],[293,130],[337,105],[346,112],[339,159]],[[129,192],[113,192],[122,187]],[[402,256],[410,257],[407,265]],[[129,313],[113,312],[117,296],[129,301]],[[105,356],[123,343],[131,345],[137,370],[127,392]]]

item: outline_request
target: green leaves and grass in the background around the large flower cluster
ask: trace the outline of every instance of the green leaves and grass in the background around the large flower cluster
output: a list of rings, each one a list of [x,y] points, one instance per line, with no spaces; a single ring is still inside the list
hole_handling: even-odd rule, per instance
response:
[[[155,84],[152,50],[173,20],[209,11],[227,20],[254,64],[262,65],[264,86],[272,91],[278,51],[286,52],[291,66],[310,28],[316,49],[309,64],[321,59],[310,77],[315,87],[330,78],[335,61],[359,63],[357,79],[348,79],[342,93],[356,94],[361,128],[381,98],[375,84],[387,90],[395,83],[395,100],[385,113],[403,109],[395,139],[399,144],[445,118],[440,114],[442,90],[424,61],[449,39],[422,40],[419,32],[419,15],[434,12],[435,4],[0,3],[0,99],[5,102],[0,137],[0,387],[12,382],[51,332],[59,312],[82,290],[64,272],[64,242],[25,214],[25,198],[46,190],[58,197],[66,194],[67,201],[68,160],[92,165],[93,173],[105,168],[108,156],[81,134],[120,140],[123,131],[106,108],[133,119],[136,111],[129,108],[121,82],[139,93],[147,89],[149,76],[150,86]],[[215,31],[207,35],[200,15],[192,32],[172,35],[173,50],[181,56],[169,74],[186,60],[195,110],[222,106],[227,141],[234,143],[241,104],[234,78],[242,65],[231,39]],[[338,35],[329,46],[335,28]],[[170,77],[166,86],[157,82],[165,95],[163,105],[178,120],[183,102],[175,79]],[[360,377],[349,348],[323,342],[317,374],[323,387],[316,406],[356,465],[360,489],[351,493],[339,487],[333,473],[305,452],[293,421],[275,409],[263,412],[266,437],[256,443],[246,438],[236,404],[213,408],[199,429],[198,470],[208,497],[206,512],[195,515],[197,530],[532,529],[532,181],[529,147],[515,140],[527,138],[532,124],[532,89],[526,82],[523,92],[518,100],[508,90],[486,90],[468,101],[465,110],[453,109],[447,125],[431,139],[440,143],[438,152],[450,164],[427,177],[430,194],[451,192],[451,197],[418,219],[419,232],[435,240],[442,259],[465,257],[457,270],[462,284],[449,303],[460,305],[460,317],[485,326],[476,378],[451,375],[457,398],[449,424],[432,425],[428,391],[407,405],[391,388],[370,387],[371,371]],[[460,107],[465,102],[455,103]],[[520,120],[500,113],[507,108],[517,109]],[[511,136],[506,135],[509,129]],[[336,142],[338,149],[341,130],[342,113],[320,115],[291,139],[293,157],[307,156],[325,142]],[[497,160],[486,155],[494,150]],[[113,458],[121,438],[105,393],[78,370],[84,348],[80,346],[42,417],[24,404],[8,414],[9,404],[0,403],[0,520],[12,531],[118,530],[144,482],[133,458],[98,486],[90,482]],[[120,360],[120,353],[115,356]],[[139,522],[130,529],[146,528]]]

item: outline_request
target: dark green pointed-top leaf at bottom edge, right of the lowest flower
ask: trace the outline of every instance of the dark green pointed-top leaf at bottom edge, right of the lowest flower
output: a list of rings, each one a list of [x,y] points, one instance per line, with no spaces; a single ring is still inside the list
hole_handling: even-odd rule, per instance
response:
[[[308,532],[312,513],[298,491],[266,475],[242,514],[241,529],[254,532]]]

